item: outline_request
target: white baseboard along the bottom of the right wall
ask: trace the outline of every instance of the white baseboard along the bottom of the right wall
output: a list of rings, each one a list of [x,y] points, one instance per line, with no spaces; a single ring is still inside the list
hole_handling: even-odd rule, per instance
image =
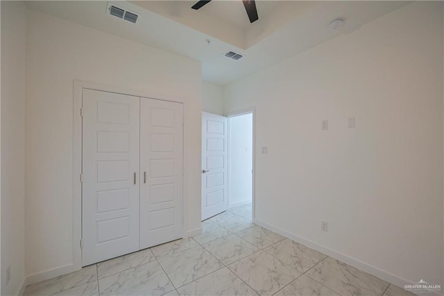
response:
[[[294,240],[295,242],[299,242],[302,245],[305,245],[307,247],[311,247],[311,249],[316,249],[316,251],[318,251],[318,252],[321,252],[325,255],[328,255],[328,256],[335,258],[339,261],[342,261],[344,263],[347,263],[348,265],[352,265],[353,267],[358,268],[359,270],[363,270],[364,272],[368,272],[369,274],[373,274],[375,277],[379,277],[379,279],[383,279],[384,281],[388,281],[388,283],[393,283],[394,285],[396,285],[398,287],[404,287],[404,285],[411,285],[411,284],[415,283],[413,281],[409,281],[409,280],[404,279],[402,277],[398,277],[397,275],[392,274],[391,272],[386,272],[385,270],[381,270],[379,268],[376,268],[373,265],[359,261],[356,258],[352,258],[352,257],[342,254],[340,252],[336,252],[334,249],[330,249],[329,247],[319,245],[317,242],[314,242],[312,240],[307,240],[306,238],[302,238],[300,236],[297,236],[296,234],[293,234],[293,233],[286,231],[284,229],[281,229],[279,227],[275,227],[275,226],[268,224],[266,222],[263,222],[261,220],[253,219],[253,223],[255,223],[259,226],[262,226],[268,230],[274,231],[275,233],[279,233],[281,236],[285,236],[286,238]],[[442,295],[442,294],[435,294],[435,295]]]

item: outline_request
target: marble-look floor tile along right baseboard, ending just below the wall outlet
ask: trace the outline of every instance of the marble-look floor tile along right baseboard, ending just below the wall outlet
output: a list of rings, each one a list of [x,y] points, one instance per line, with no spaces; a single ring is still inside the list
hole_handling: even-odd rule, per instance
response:
[[[288,238],[281,240],[271,247],[267,247],[265,252],[275,256],[300,272],[306,272],[327,257],[327,255],[305,247],[305,245],[301,245]]]

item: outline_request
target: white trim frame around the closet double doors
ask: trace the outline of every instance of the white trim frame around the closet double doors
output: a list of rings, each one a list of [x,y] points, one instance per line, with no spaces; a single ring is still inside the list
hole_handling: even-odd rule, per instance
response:
[[[171,101],[173,103],[181,103],[183,108],[183,139],[182,139],[182,167],[185,168],[185,159],[188,156],[188,148],[185,145],[188,139],[187,129],[185,129],[185,122],[187,121],[187,103],[184,98],[175,97],[171,95],[165,95],[159,92],[153,91],[143,91],[143,90],[130,90],[128,88],[121,88],[113,85],[105,85],[101,83],[94,83],[88,81],[74,80],[73,83],[73,174],[72,174],[72,203],[73,203],[73,256],[72,263],[63,266],[61,269],[54,270],[51,276],[56,277],[61,274],[67,274],[69,272],[74,272],[82,268],[82,183],[80,182],[80,174],[82,173],[82,116],[80,110],[82,108],[82,90],[86,88],[89,90],[99,90],[103,92],[114,92],[117,94],[128,94],[135,97],[144,97],[147,99],[157,99],[160,101]],[[186,192],[185,184],[189,179],[189,174],[187,170],[184,170],[182,179],[182,236],[185,237],[185,229],[187,229],[187,208],[186,204],[188,201],[188,196]]]

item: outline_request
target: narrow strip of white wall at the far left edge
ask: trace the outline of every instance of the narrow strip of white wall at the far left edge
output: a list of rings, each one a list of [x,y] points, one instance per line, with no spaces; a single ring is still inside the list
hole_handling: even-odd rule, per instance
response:
[[[1,1],[1,295],[17,295],[25,275],[25,67],[26,6]]]

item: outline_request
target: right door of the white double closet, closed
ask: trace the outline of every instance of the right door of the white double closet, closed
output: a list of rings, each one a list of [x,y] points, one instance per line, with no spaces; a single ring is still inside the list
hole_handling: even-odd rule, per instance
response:
[[[182,238],[182,104],[141,98],[140,248]]]

